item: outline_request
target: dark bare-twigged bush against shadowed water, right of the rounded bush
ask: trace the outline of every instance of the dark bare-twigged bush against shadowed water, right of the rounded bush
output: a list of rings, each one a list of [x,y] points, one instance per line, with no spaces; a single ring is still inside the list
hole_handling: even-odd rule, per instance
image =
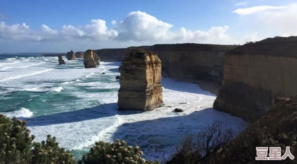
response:
[[[181,146],[176,147],[176,153],[165,164],[204,164],[211,156],[216,158],[227,148],[234,133],[231,129],[222,127],[218,121],[212,122],[195,136],[187,136]]]

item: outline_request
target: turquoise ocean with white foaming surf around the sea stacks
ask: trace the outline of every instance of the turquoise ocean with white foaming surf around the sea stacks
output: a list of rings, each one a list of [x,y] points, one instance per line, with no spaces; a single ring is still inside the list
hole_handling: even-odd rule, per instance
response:
[[[58,65],[57,57],[0,54],[0,113],[27,120],[35,141],[55,136],[75,159],[96,141],[125,140],[144,158],[161,160],[175,146],[217,120],[236,129],[240,118],[212,109],[215,95],[198,85],[162,78],[164,106],[148,112],[118,111],[120,62],[84,69],[83,59]],[[105,74],[102,74],[102,73]],[[180,108],[182,113],[173,110]]]

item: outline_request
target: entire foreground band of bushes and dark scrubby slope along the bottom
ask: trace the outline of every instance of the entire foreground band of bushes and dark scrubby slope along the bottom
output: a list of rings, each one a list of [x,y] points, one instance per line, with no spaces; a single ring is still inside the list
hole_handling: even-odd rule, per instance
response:
[[[297,152],[297,96],[278,98],[267,115],[242,127],[237,135],[215,121],[201,133],[185,137],[164,164],[297,164],[296,157],[256,161],[256,147],[280,147],[281,156],[289,147]],[[54,137],[33,142],[26,122],[0,115],[0,164],[75,164],[73,155],[58,146]],[[288,153],[288,152],[287,152]],[[138,146],[125,141],[96,142],[78,164],[159,164],[141,157]],[[267,153],[269,155],[269,153]]]

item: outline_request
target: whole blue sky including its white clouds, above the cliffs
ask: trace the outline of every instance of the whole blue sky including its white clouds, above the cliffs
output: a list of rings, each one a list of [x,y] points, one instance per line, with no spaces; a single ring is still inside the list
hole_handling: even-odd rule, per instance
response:
[[[297,0],[1,0],[0,53],[297,35]]]

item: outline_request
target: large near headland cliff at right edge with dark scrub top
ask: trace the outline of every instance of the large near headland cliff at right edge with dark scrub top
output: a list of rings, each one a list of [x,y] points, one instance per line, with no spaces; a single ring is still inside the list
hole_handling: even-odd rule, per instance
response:
[[[278,96],[297,95],[297,37],[268,38],[225,54],[213,108],[254,121]]]

